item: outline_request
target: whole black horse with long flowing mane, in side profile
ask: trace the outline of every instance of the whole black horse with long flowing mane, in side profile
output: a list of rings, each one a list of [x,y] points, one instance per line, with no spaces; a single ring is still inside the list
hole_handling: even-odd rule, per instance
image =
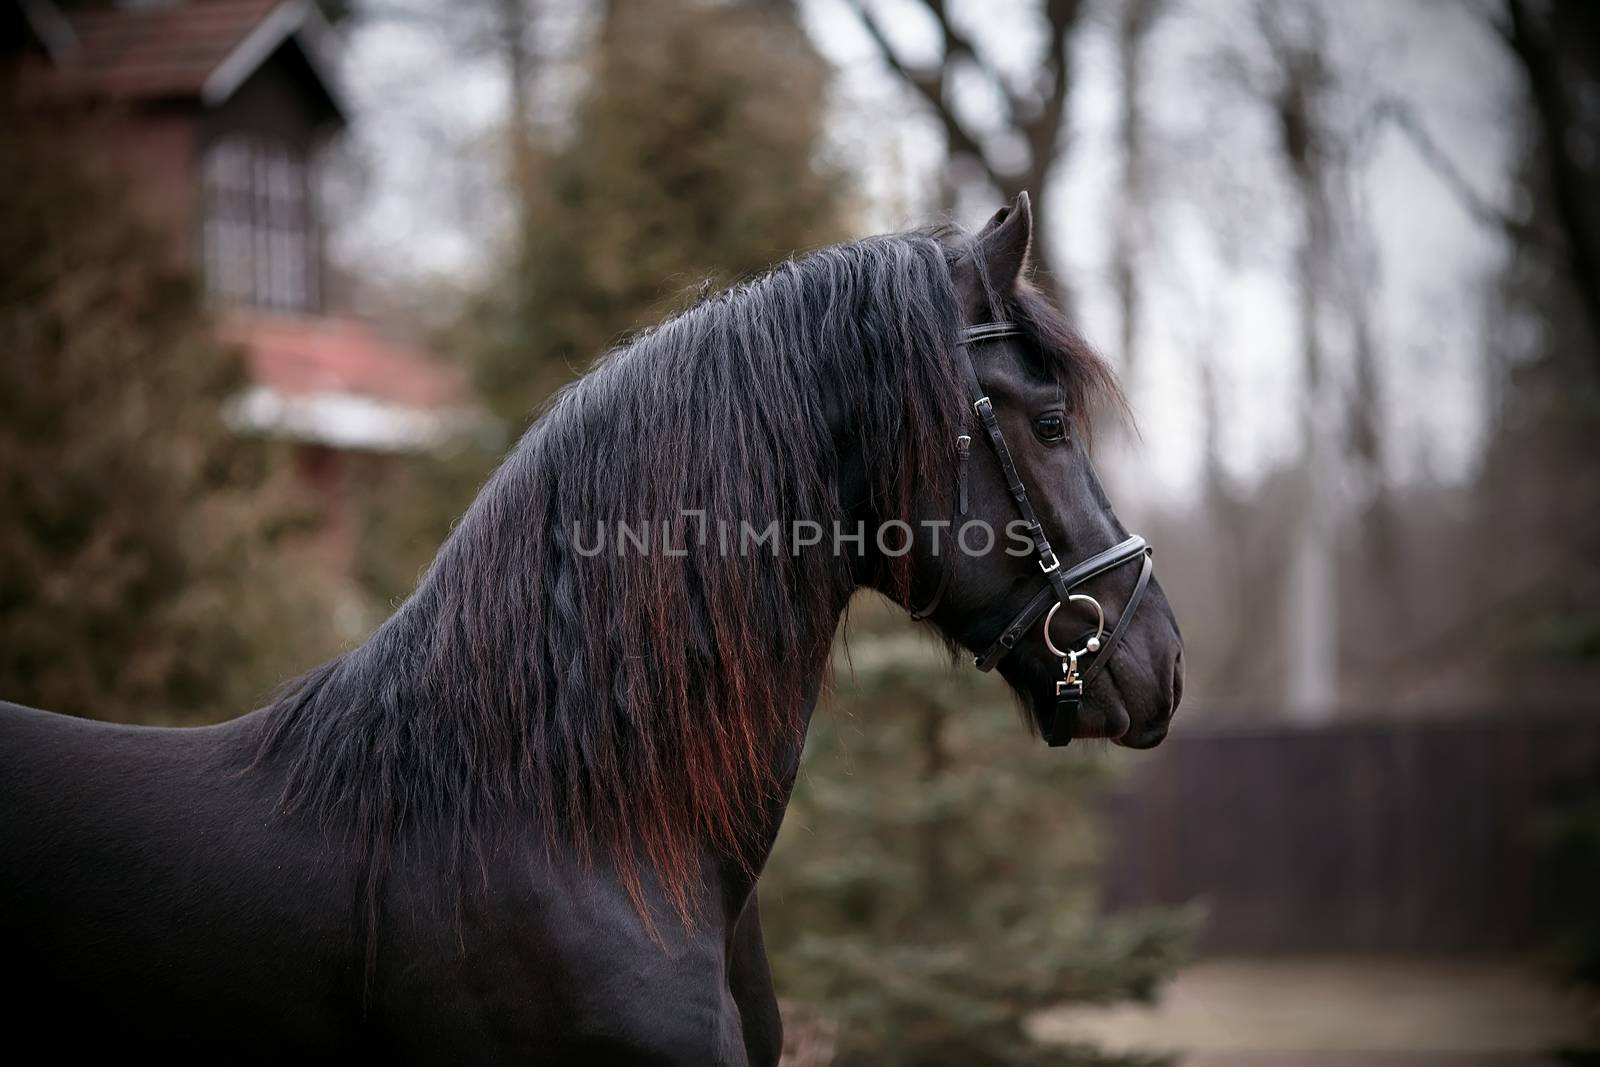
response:
[[[1126,537],[1082,446],[1115,382],[1021,277],[1030,226],[1024,197],[976,235],[829,248],[630,341],[395,616],[269,707],[157,729],[0,705],[8,1040],[774,1064],[755,881],[854,590],[933,595],[974,649],[1021,619],[998,665],[1056,742],[1149,747],[1178,704],[1147,566],[1074,579],[1123,611],[1070,678],[1029,616],[1066,589],[1040,600],[1062,569],[1037,553]],[[938,520],[1003,530],[1024,493],[1026,553],[941,552]],[[1106,667],[1082,697],[1078,656]]]

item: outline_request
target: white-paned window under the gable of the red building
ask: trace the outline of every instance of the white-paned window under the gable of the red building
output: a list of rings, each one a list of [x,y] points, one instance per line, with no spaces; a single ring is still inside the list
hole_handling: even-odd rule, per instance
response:
[[[205,275],[216,296],[256,307],[317,302],[306,162],[282,141],[230,136],[205,158]]]

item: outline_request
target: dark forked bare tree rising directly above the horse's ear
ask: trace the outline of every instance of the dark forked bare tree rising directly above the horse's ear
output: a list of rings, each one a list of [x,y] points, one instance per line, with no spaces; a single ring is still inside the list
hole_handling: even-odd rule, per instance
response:
[[[974,165],[1002,197],[1011,200],[1027,190],[1038,219],[1035,232],[1050,234],[1050,205],[1058,162],[1066,149],[1066,114],[1072,90],[1072,37],[1082,21],[1082,0],[1042,0],[1037,18],[1043,19],[1045,56],[1027,85],[1018,85],[990,59],[950,16],[946,0],[920,0],[939,27],[939,58],[931,66],[904,59],[869,0],[850,0],[867,35],[877,43],[883,61],[901,82],[933,110],[944,130],[946,152],[952,162]],[[976,72],[1002,101],[1005,131],[1014,134],[1027,152],[1022,166],[1002,163],[992,147],[997,131],[974,128],[955,99],[962,72]],[[1067,286],[1051,269],[1051,253],[1045,242],[1034,245],[1034,269],[1040,282],[1058,298],[1067,299]]]

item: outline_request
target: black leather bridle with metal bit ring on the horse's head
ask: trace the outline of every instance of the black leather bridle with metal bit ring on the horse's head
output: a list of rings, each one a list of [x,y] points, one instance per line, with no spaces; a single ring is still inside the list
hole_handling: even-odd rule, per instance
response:
[[[1054,656],[1061,657],[1061,680],[1056,681],[1056,707],[1051,715],[1051,721],[1040,723],[1040,729],[1045,741],[1058,747],[1072,741],[1072,734],[1077,728],[1078,709],[1083,704],[1083,689],[1099,675],[1101,670],[1104,670],[1106,664],[1110,661],[1110,654],[1128,633],[1128,625],[1133,622],[1133,614],[1139,608],[1139,600],[1144,597],[1144,590],[1150,584],[1152,550],[1150,545],[1146,544],[1144,537],[1134,534],[1120,544],[1114,544],[1104,552],[1091,555],[1075,566],[1062,569],[1061,560],[1056,557],[1054,549],[1050,547],[1050,537],[1045,534],[1045,528],[1040,525],[1038,515],[1034,512],[1034,504],[1027,499],[1027,486],[1022,485],[1022,478],[1016,470],[1016,462],[1011,459],[1011,450],[1006,446],[1005,434],[1000,430],[1000,419],[995,418],[994,403],[990,403],[989,397],[984,394],[982,384],[978,381],[978,368],[973,366],[973,357],[968,350],[976,344],[1018,336],[1022,336],[1022,330],[1016,323],[1010,322],[968,326],[962,331],[960,346],[957,349],[957,368],[966,381],[966,392],[971,397],[973,414],[978,416],[979,426],[984,434],[989,435],[989,446],[994,450],[995,459],[1000,461],[1000,472],[1005,475],[1006,488],[1011,491],[1011,499],[1016,501],[1018,514],[1027,525],[1029,536],[1034,541],[1034,553],[1038,557],[1038,566],[1045,573],[1045,579],[1050,584],[1038,590],[1038,593],[1016,613],[1011,622],[1000,630],[1000,635],[995,637],[989,648],[986,648],[974,659],[974,664],[979,670],[992,670],[995,664],[1005,659],[1006,653],[1016,648],[1016,643],[1022,640],[1035,622],[1038,622],[1040,616],[1043,616],[1045,646]],[[971,437],[962,434],[955,440],[955,451],[958,467],[955,518],[950,522],[952,533],[958,531],[960,520],[966,515],[966,459],[971,453]],[[1094,600],[1094,597],[1075,593],[1072,590],[1090,579],[1112,571],[1123,563],[1131,563],[1133,560],[1142,560],[1139,581],[1134,582],[1128,603],[1123,605],[1122,614],[1117,617],[1117,624],[1112,627],[1110,635],[1107,635],[1106,611],[1101,608],[1099,601]],[[933,595],[920,608],[915,608],[910,616],[914,619],[925,619],[933,614],[933,611],[944,600],[944,590],[949,584],[950,566],[946,565],[939,571],[939,584],[933,590]],[[1054,622],[1056,611],[1059,611],[1062,605],[1070,603],[1093,605],[1098,622],[1094,630],[1082,638],[1083,648],[1069,648],[1062,651],[1050,637],[1050,624]],[[1080,672],[1082,661],[1090,656],[1093,656],[1093,662]]]

